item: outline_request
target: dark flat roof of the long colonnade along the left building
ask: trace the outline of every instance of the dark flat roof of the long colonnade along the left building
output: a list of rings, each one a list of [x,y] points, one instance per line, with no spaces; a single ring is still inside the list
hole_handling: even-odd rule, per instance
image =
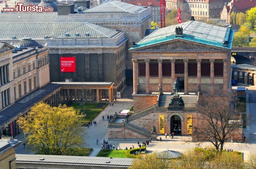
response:
[[[23,113],[25,110],[41,101],[48,94],[60,87],[60,84],[49,83],[46,86],[36,89],[20,99],[17,99],[14,104],[0,112],[0,127],[4,127],[5,123],[10,123],[15,116]]]

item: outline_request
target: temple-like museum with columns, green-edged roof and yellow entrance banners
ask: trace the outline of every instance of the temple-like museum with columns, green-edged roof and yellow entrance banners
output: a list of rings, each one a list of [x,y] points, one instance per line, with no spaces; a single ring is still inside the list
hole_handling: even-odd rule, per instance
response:
[[[183,31],[177,34],[176,27],[182,27]],[[198,124],[194,119],[198,115],[195,109],[198,85],[201,93],[227,91],[230,87],[233,35],[231,27],[189,21],[158,29],[134,42],[129,49],[133,62],[134,113],[126,116],[123,123],[113,119],[108,126],[109,138],[148,138],[152,125],[156,134],[177,129],[181,135],[192,134],[192,128]],[[176,102],[169,106],[175,80],[185,103],[183,107],[177,107]]]

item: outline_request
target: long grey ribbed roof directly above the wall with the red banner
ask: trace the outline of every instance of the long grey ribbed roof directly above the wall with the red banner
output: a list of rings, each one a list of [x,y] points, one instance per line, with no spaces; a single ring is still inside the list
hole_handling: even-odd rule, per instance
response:
[[[30,37],[31,39],[45,39],[47,36],[55,38],[110,38],[119,32],[89,22],[36,22],[10,24],[1,23],[0,21],[0,30],[0,39],[10,40],[12,37],[21,39],[25,36]],[[78,33],[79,36],[76,36],[76,33]],[[66,34],[69,35],[67,36]]]

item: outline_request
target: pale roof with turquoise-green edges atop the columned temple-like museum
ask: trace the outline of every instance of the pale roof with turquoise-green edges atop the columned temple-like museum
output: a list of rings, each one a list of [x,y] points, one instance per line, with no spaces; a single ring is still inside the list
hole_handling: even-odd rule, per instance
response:
[[[175,28],[178,26],[183,28],[183,36],[175,36]],[[144,37],[143,40],[138,42],[136,46],[132,46],[129,50],[175,39],[184,39],[206,45],[231,49],[233,36],[234,31],[232,31],[231,28],[219,27],[198,21],[188,21],[158,29]]]

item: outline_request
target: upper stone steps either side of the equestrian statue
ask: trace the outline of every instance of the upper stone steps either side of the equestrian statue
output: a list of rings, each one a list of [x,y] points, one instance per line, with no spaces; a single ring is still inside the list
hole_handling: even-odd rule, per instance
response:
[[[168,107],[169,101],[173,95],[162,94],[159,102],[159,107]],[[185,108],[193,108],[197,104],[197,95],[180,95],[185,103]],[[175,103],[176,104],[176,103]]]

